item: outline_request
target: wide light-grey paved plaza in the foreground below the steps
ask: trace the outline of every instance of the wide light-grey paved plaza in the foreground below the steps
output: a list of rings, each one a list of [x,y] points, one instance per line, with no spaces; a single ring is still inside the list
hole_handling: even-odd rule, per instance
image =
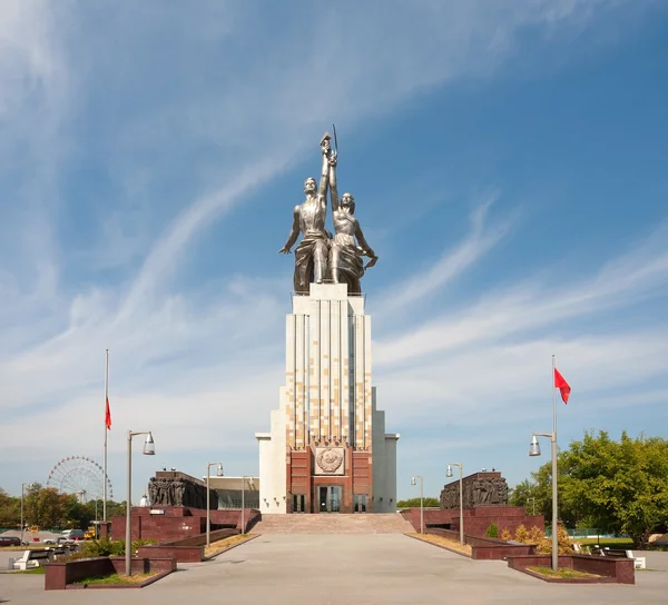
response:
[[[474,562],[397,534],[263,535],[214,561],[179,566],[144,589],[43,591],[43,576],[0,575],[11,605],[207,603],[666,603],[668,553],[649,553],[636,586],[556,585],[503,562]]]

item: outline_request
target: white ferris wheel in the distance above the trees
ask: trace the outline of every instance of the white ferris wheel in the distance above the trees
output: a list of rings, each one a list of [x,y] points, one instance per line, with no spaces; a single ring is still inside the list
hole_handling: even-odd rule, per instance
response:
[[[104,498],[104,485],[105,470],[87,456],[68,456],[58,460],[47,479],[48,487],[56,487],[65,494],[75,494],[82,504]],[[107,499],[114,499],[109,475],[107,475]]]

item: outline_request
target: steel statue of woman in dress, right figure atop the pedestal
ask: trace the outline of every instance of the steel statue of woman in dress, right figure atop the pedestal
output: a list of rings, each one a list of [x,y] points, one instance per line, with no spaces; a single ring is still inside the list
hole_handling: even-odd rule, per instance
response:
[[[338,201],[338,189],[336,186],[336,155],[333,155],[330,163],[330,195],[332,197],[332,221],[334,222],[334,241],[330,248],[330,278],[334,284],[347,284],[350,294],[361,294],[360,280],[364,269],[373,267],[379,257],[364,239],[360,221],[353,216],[355,212],[355,198],[351,194],[343,194]],[[357,244],[355,244],[357,238]],[[367,256],[371,260],[366,267],[362,264],[362,257]]]

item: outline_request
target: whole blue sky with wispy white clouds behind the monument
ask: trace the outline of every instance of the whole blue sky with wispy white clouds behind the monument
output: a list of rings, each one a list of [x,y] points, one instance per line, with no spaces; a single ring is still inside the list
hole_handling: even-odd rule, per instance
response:
[[[546,463],[552,354],[562,445],[666,436],[667,31],[639,0],[2,2],[0,486],[101,463],[106,347],[116,499],[128,428],[137,497],[257,473],[333,121],[400,497]]]

